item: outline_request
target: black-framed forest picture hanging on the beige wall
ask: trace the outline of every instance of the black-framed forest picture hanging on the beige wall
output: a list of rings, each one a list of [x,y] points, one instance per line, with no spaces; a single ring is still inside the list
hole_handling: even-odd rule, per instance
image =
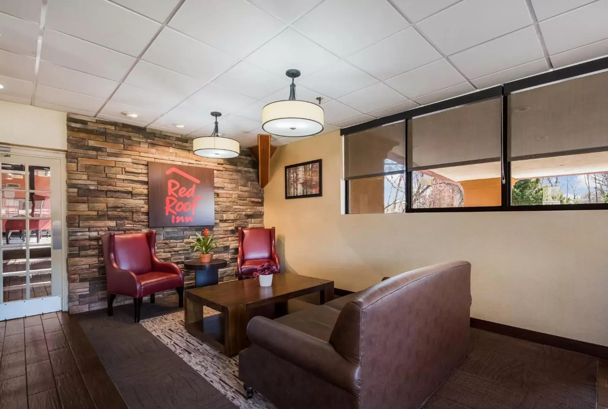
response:
[[[285,199],[323,195],[321,159],[285,167]]]

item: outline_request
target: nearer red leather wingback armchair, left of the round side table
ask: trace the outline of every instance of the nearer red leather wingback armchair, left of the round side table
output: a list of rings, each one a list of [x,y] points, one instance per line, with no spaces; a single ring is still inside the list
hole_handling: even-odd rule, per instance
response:
[[[108,315],[116,294],[133,297],[135,322],[139,322],[142,298],[176,289],[179,306],[184,306],[184,274],[177,264],[156,257],[156,231],[145,233],[107,233],[102,236],[103,260],[108,282]]]

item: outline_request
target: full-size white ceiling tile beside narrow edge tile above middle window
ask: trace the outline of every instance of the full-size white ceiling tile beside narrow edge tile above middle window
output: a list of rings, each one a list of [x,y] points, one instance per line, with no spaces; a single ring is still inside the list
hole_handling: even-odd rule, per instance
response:
[[[465,81],[446,60],[438,60],[384,81],[408,98],[416,98]]]

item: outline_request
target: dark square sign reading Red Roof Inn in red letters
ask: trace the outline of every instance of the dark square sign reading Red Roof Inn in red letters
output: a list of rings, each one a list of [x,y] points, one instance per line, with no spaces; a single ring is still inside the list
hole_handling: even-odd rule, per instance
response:
[[[215,224],[213,169],[148,163],[150,227]]]

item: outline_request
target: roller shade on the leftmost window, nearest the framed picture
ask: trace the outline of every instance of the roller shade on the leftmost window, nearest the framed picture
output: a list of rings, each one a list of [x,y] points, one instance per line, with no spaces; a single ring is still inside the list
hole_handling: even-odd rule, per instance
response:
[[[344,177],[356,179],[405,170],[405,122],[344,137]]]

